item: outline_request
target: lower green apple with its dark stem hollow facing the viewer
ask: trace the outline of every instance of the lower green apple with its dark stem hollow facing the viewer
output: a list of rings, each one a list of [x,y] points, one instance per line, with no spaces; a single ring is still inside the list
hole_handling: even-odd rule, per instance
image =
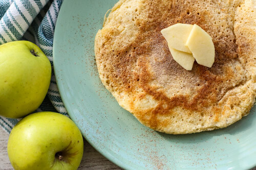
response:
[[[77,169],[83,138],[67,116],[38,112],[26,116],[12,129],[7,149],[14,169]]]

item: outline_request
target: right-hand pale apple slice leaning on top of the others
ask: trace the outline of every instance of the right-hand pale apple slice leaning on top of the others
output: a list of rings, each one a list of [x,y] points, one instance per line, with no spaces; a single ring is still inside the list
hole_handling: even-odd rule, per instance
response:
[[[192,52],[198,64],[211,67],[215,60],[215,47],[211,37],[194,24],[185,45]]]

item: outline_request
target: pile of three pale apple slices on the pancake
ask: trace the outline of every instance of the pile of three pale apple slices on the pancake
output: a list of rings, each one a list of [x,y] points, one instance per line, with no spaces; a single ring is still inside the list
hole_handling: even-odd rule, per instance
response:
[[[215,47],[209,34],[198,25],[177,23],[161,30],[174,60],[186,70],[197,63],[211,67],[215,60]]]

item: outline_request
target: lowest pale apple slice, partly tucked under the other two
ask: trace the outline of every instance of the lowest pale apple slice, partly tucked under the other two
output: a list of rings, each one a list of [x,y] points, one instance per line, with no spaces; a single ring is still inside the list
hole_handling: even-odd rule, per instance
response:
[[[175,50],[174,48],[170,47],[170,45],[168,46],[174,60],[186,70],[191,70],[195,61],[193,55]]]

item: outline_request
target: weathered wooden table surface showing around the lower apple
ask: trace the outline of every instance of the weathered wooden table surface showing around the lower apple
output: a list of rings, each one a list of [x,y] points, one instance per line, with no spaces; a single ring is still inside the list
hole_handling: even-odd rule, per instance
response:
[[[7,142],[9,134],[0,127],[0,169],[13,169],[7,154]],[[86,140],[84,140],[84,152],[78,169],[121,169],[100,153],[98,153]],[[251,170],[256,170],[254,167]]]

